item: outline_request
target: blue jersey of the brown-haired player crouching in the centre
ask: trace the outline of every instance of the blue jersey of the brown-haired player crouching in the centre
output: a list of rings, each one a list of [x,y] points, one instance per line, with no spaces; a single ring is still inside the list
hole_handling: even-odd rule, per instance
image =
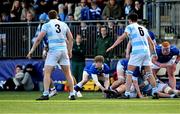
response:
[[[109,74],[110,68],[107,64],[103,64],[101,69],[96,68],[95,63],[92,63],[91,65],[88,65],[84,68],[84,71],[86,71],[89,75],[96,74],[96,75],[102,75],[102,74]]]

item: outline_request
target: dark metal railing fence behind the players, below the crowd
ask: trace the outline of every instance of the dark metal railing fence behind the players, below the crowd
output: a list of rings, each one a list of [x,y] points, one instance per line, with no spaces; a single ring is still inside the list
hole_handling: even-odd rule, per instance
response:
[[[86,56],[94,56],[94,45],[97,37],[99,36],[99,27],[96,25],[96,22],[91,22],[89,25],[84,25],[84,22],[67,22],[69,25],[74,38],[76,34],[81,34],[83,42],[86,45]],[[99,22],[98,22],[99,23]],[[104,22],[101,21],[103,25],[108,26],[108,23],[111,25],[115,24],[114,22]],[[121,35],[125,28],[125,21],[116,22],[118,25],[108,27],[108,34],[112,37],[113,40]],[[35,36],[35,32],[39,23],[3,23],[0,26],[0,57],[3,58],[17,58],[17,57],[26,57],[28,51],[32,46],[32,39]],[[119,45],[114,50],[114,57],[124,56],[124,51],[127,45],[127,40],[125,40],[121,45]],[[43,45],[40,45],[34,57],[41,57]]]

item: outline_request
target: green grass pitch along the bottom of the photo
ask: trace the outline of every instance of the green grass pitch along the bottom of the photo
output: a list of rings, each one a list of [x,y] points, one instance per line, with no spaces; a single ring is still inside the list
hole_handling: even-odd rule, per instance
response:
[[[104,99],[100,92],[83,92],[67,99],[61,92],[48,101],[35,101],[39,92],[0,92],[0,114],[180,114],[180,99]]]

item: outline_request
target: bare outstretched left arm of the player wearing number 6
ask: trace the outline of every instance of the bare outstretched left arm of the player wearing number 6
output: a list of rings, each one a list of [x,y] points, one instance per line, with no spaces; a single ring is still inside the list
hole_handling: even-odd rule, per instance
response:
[[[120,44],[127,36],[127,33],[123,33],[115,42],[114,44],[109,47],[106,52],[109,52],[110,50],[112,50],[113,48],[115,48],[118,44]]]

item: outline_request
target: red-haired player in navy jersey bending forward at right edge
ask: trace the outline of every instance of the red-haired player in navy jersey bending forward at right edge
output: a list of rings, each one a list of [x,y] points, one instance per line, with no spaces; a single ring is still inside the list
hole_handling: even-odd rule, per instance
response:
[[[162,43],[162,46],[156,46],[156,52],[157,56],[153,56],[152,58],[152,69],[154,75],[156,76],[160,68],[166,68],[169,85],[171,88],[176,89],[176,78],[174,72],[176,71],[176,64],[180,60],[180,50],[165,41]],[[173,56],[177,56],[177,58],[174,60]]]

